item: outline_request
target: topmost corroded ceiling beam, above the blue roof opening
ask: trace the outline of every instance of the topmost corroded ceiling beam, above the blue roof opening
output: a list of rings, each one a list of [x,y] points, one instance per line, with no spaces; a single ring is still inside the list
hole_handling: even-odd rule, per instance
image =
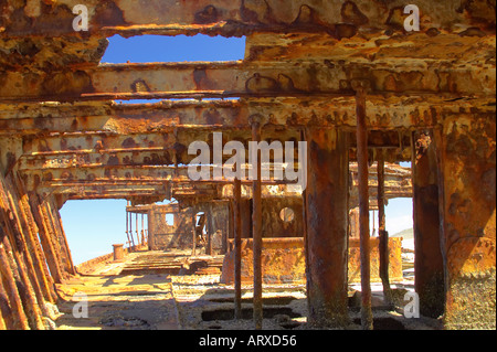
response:
[[[3,1],[0,19],[2,35],[75,35],[73,8],[80,0]],[[137,35],[144,33],[177,35],[207,33],[226,36],[252,32],[327,32],[336,38],[350,36],[360,29],[398,29],[403,26],[405,2],[296,0],[87,0],[89,33]],[[491,1],[417,0],[423,25],[427,28],[488,28],[495,24]],[[56,21],[54,21],[56,19]],[[347,25],[346,25],[347,24]]]

